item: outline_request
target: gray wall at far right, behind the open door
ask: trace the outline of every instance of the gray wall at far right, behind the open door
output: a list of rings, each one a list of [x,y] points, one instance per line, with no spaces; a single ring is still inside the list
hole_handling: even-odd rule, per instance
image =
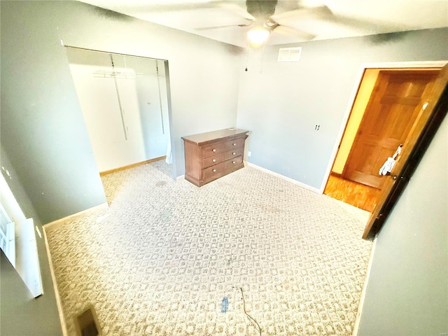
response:
[[[359,336],[447,335],[448,118],[379,232]]]

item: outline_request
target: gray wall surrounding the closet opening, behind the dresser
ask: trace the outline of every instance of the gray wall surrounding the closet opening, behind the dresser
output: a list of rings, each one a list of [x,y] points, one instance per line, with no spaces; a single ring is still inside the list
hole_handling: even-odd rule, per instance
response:
[[[65,45],[167,59],[181,137],[235,127],[240,48],[76,1],[1,1],[1,144],[43,223],[106,202]]]

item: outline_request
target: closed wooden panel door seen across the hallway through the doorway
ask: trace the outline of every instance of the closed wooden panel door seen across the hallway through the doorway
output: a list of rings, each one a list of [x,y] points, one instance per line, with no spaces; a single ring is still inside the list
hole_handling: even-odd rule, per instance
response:
[[[363,120],[353,141],[342,176],[379,188],[379,169],[404,144],[419,114],[417,106],[428,97],[438,69],[379,71]]]

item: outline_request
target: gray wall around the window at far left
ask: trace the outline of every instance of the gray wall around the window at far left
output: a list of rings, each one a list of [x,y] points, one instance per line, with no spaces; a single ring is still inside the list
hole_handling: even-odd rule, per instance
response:
[[[39,221],[27,197],[25,188],[23,188],[15,170],[10,165],[3,148],[1,148],[1,166],[6,167],[10,173],[11,178],[6,174],[3,174],[3,177],[8,182],[8,186],[19,202],[23,213],[27,218],[33,218],[35,225],[41,226],[41,221]],[[3,251],[0,253],[0,335],[62,335],[45,241],[38,235],[36,235],[36,245],[43,287],[43,295],[37,298],[31,295]]]

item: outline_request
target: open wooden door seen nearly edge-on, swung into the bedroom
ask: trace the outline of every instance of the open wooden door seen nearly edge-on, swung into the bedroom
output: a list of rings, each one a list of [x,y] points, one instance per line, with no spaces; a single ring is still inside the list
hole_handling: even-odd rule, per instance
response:
[[[433,90],[418,104],[416,121],[404,142],[402,152],[392,172],[384,176],[381,196],[365,227],[363,238],[373,238],[379,232],[396,200],[414,173],[426,148],[448,112],[448,64],[440,71]]]

